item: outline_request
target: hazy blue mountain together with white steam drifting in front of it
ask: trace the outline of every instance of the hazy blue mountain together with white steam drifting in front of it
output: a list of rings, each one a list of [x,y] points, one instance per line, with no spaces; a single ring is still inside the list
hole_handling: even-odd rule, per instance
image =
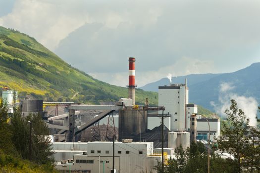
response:
[[[249,114],[256,114],[260,103],[260,63],[233,73],[199,74],[172,78],[173,84],[184,84],[185,78],[189,87],[189,102],[223,114],[231,98],[240,102],[244,109],[252,109]],[[157,82],[141,87],[144,90],[158,91],[158,86],[169,85],[163,78]]]

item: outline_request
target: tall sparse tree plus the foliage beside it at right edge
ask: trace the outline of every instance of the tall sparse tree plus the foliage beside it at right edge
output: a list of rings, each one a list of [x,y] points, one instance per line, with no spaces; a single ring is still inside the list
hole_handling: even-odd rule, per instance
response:
[[[221,136],[217,139],[219,149],[234,155],[233,167],[237,173],[259,173],[260,131],[249,128],[249,119],[234,99],[231,99],[231,106],[225,113],[230,126],[223,124]],[[249,131],[251,135],[247,135]]]

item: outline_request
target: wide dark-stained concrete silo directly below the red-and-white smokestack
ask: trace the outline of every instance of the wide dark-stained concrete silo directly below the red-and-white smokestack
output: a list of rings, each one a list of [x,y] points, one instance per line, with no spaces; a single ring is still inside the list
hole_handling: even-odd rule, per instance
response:
[[[147,131],[147,111],[145,110],[119,110],[118,138],[132,138]]]

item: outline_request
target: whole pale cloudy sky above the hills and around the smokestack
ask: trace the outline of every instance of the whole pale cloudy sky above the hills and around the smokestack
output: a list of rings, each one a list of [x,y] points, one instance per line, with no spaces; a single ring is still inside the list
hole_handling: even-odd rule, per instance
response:
[[[123,87],[130,56],[139,87],[260,62],[260,0],[0,0],[0,26]]]

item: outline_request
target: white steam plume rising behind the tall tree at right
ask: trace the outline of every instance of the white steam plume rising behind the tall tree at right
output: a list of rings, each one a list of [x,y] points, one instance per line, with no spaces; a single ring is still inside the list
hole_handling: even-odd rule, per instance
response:
[[[232,92],[232,89],[234,88],[235,87],[230,83],[220,84],[218,95],[219,103],[216,104],[211,101],[210,104],[214,107],[217,114],[225,116],[225,110],[230,107],[230,99],[235,99],[238,107],[242,109],[245,112],[245,115],[250,119],[249,126],[257,126],[257,100],[254,97],[246,97]]]

